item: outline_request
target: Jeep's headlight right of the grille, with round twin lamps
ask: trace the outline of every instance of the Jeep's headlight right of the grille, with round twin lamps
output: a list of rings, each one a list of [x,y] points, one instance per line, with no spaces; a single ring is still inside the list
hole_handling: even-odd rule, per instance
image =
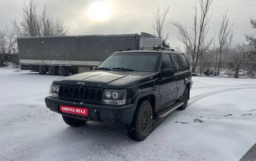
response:
[[[126,90],[105,89],[102,104],[124,105],[126,104]]]

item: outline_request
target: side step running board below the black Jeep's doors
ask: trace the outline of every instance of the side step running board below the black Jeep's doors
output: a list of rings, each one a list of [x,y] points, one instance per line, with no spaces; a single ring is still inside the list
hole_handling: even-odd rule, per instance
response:
[[[175,111],[177,108],[181,107],[184,102],[177,102],[169,105],[165,109],[163,109],[161,112],[158,113],[158,117],[155,121],[152,122],[152,126],[150,128],[150,133],[157,128],[158,125],[160,125],[164,119],[166,119],[173,111]]]

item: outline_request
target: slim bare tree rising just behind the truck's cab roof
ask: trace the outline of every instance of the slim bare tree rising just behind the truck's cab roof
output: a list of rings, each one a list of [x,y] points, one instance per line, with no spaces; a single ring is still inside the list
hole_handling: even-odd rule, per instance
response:
[[[154,35],[158,38],[161,38],[163,40],[167,40],[169,37],[169,33],[163,37],[163,26],[164,22],[166,21],[166,16],[169,12],[170,7],[164,8],[164,11],[161,12],[159,9],[159,6],[157,7],[157,11],[153,13],[154,16],[154,23],[153,23],[153,29],[154,29]],[[155,33],[156,32],[156,33]]]

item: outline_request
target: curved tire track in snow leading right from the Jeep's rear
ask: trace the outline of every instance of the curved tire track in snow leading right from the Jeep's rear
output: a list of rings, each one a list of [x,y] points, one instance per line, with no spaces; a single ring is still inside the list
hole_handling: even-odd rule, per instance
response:
[[[223,89],[223,90],[211,91],[209,93],[203,93],[203,94],[196,95],[196,96],[193,96],[192,98],[190,98],[189,103],[188,103],[188,107],[190,105],[194,104],[195,102],[198,102],[200,99],[203,99],[207,96],[212,96],[212,95],[223,93],[223,92],[226,92],[226,91],[241,90],[241,89],[255,89],[255,88],[254,87],[246,87],[246,88]]]

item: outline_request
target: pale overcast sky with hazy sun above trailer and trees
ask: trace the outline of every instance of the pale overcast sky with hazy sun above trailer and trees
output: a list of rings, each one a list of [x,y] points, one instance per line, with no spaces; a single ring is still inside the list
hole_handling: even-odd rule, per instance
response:
[[[198,0],[197,0],[198,1]],[[25,1],[29,3],[29,0]],[[153,12],[157,7],[161,10],[170,6],[164,34],[170,33],[168,43],[172,47],[180,46],[176,29],[171,21],[180,21],[188,28],[193,24],[193,0],[35,0],[37,9],[42,12],[44,4],[55,18],[68,24],[70,35],[88,34],[134,34],[141,32],[153,33]],[[22,16],[21,0],[0,0],[0,29],[10,26],[10,20]],[[209,38],[217,35],[222,15],[228,12],[230,24],[234,23],[234,42],[246,43],[244,34],[253,33],[250,19],[256,19],[255,0],[213,0],[209,22]],[[217,36],[216,36],[217,38]]]

